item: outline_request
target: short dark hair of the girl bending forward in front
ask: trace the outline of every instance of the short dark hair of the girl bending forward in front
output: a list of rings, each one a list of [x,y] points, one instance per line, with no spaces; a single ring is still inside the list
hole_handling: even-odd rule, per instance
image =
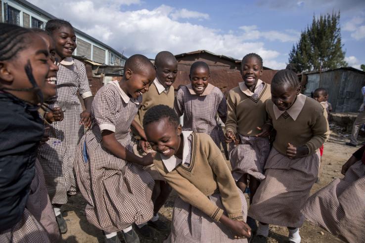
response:
[[[166,105],[157,105],[148,109],[143,117],[143,128],[145,129],[148,124],[160,121],[163,118],[168,119],[171,125],[178,128],[180,124],[178,115],[172,108]]]

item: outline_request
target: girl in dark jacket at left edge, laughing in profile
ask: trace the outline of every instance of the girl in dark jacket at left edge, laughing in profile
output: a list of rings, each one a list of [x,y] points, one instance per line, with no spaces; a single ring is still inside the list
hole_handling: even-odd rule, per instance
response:
[[[0,23],[0,242],[50,242],[26,203],[44,133],[37,111],[56,92],[47,80],[51,66],[40,36]]]

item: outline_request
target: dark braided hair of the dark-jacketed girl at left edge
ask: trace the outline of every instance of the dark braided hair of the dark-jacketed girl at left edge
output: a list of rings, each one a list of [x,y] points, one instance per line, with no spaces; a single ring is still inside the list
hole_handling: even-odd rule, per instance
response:
[[[0,23],[0,61],[11,60],[19,51],[25,49],[30,43],[27,38],[30,33],[30,29]]]

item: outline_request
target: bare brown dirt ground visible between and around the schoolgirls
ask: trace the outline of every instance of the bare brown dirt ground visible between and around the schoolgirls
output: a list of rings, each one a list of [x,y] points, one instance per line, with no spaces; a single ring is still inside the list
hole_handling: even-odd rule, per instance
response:
[[[327,185],[334,178],[342,178],[341,166],[346,162],[351,155],[357,150],[353,147],[348,147],[345,142],[348,142],[349,135],[343,134],[339,127],[331,126],[332,134],[328,142],[324,144],[324,154],[321,163],[320,183],[315,184],[311,193],[318,191],[320,188]],[[364,143],[364,138],[361,138]],[[166,222],[171,222],[172,208],[177,194],[172,192],[170,198],[160,210],[160,218]],[[103,243],[104,237],[101,230],[88,223],[85,216],[85,200],[78,194],[70,198],[69,203],[65,204],[61,210],[68,225],[68,231],[62,235],[63,242],[66,243]],[[159,243],[167,238],[169,232],[155,231],[153,240],[146,240],[140,237],[141,243]],[[300,229],[302,243],[341,243],[331,234],[327,233],[318,226],[306,221]],[[269,243],[286,243],[288,242],[288,231],[286,227],[270,226]],[[123,236],[119,235],[121,242]]]

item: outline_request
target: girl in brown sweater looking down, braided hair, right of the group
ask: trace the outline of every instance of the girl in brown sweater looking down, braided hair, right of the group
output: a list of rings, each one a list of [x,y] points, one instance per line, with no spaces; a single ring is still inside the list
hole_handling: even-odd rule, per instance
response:
[[[269,225],[287,226],[289,242],[300,243],[299,227],[304,216],[300,210],[316,182],[319,147],[329,134],[323,107],[300,93],[297,75],[280,70],[271,84],[271,100],[266,103],[268,124],[276,130],[273,148],[248,215],[260,221],[257,235],[266,238]]]

